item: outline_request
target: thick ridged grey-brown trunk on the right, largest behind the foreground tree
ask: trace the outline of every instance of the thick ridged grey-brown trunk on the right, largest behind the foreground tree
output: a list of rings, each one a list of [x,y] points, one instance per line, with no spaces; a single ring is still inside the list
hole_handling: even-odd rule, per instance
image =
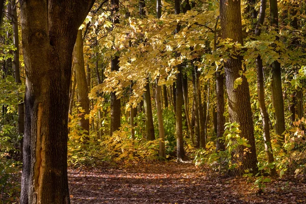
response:
[[[240,1],[221,0],[220,20],[222,38],[231,38],[234,42],[243,44]],[[249,88],[245,76],[240,74],[242,71],[242,57],[237,55],[235,58],[227,59],[224,62],[224,70],[230,121],[237,122],[240,125],[240,137],[247,139],[250,145],[248,151],[245,151],[245,146],[238,145],[232,152],[232,161],[241,163],[237,168],[239,173],[244,173],[245,169],[257,172],[257,155]],[[242,83],[235,89],[234,82],[240,77],[242,78]]]

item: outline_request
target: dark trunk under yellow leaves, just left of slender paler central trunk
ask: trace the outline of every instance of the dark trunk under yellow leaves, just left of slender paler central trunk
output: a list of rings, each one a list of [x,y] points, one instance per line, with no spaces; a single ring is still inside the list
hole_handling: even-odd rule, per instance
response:
[[[147,140],[155,140],[150,85],[148,81],[147,84],[145,85],[145,90],[146,91],[143,94],[143,101],[144,101],[143,104],[144,104],[145,128],[147,132]]]

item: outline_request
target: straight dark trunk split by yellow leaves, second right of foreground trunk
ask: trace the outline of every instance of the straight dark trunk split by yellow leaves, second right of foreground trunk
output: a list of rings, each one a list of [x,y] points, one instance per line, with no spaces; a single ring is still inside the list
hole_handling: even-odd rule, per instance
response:
[[[119,11],[119,0],[111,1],[111,13],[113,15],[113,23],[119,23],[117,12]],[[119,71],[119,56],[114,56],[111,60],[111,71]],[[117,98],[116,92],[111,93],[111,132],[110,135],[119,130],[121,123],[121,100]]]

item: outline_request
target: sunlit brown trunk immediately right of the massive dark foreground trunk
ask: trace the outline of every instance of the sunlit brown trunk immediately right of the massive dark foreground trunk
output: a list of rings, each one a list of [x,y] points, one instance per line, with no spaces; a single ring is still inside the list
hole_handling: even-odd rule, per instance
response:
[[[85,115],[89,114],[89,98],[84,64],[82,30],[78,31],[72,56],[75,69],[75,79],[78,83],[77,99],[78,103],[80,103],[80,107],[84,110],[83,115],[80,116],[79,125],[84,131],[86,131],[85,134],[89,135],[89,118],[85,118]]]

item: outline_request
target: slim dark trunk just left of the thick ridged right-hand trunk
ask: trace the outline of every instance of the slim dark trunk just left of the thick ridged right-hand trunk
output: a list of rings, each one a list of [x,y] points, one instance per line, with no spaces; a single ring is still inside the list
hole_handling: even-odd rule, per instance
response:
[[[217,149],[216,151],[224,151],[224,74],[220,71],[216,72],[216,106],[217,106]]]

